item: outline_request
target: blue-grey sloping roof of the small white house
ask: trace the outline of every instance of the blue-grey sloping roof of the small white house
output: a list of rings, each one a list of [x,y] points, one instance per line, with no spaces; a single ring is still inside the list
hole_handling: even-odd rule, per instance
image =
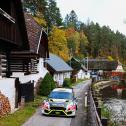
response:
[[[60,57],[50,54],[45,62],[56,72],[72,71],[73,69]]]

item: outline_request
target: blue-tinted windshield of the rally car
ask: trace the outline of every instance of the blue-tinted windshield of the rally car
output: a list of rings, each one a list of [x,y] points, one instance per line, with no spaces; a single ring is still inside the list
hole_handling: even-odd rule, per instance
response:
[[[54,99],[72,99],[73,94],[70,92],[60,92],[60,91],[53,91],[50,93],[49,98]]]

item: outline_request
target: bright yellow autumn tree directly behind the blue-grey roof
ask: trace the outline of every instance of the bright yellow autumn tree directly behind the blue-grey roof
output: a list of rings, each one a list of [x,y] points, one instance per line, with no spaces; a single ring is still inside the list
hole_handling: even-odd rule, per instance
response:
[[[65,31],[57,27],[52,28],[49,35],[49,50],[51,53],[62,57],[65,61],[69,59]]]

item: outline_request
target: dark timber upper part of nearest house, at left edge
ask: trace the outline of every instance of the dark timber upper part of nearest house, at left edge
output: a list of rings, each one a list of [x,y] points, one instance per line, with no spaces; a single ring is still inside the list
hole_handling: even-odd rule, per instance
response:
[[[0,1],[0,76],[10,77],[10,53],[28,50],[28,37],[20,0]]]

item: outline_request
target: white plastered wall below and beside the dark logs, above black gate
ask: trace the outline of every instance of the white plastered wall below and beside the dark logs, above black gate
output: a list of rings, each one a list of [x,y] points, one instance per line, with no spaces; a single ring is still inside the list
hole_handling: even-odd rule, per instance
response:
[[[44,78],[44,76],[48,72],[48,70],[43,65],[44,65],[44,60],[43,60],[43,58],[40,58],[38,66],[37,66],[38,73],[24,75],[23,72],[13,72],[12,77],[19,77],[19,81],[21,83],[26,83],[28,81],[34,81],[34,86],[36,86],[36,83],[39,80],[39,78]]]

